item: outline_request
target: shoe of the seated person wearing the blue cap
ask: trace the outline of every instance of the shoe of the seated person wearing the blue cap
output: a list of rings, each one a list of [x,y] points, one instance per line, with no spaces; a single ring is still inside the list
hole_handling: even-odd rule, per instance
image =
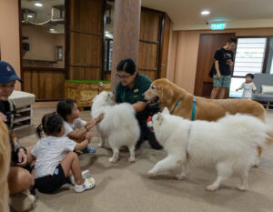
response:
[[[10,197],[10,206],[16,212],[23,212],[33,207],[35,197],[30,194],[29,190],[24,190],[19,194]]]

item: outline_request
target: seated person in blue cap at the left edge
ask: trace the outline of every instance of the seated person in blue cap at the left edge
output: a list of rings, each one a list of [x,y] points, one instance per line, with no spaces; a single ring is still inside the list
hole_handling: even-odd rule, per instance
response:
[[[12,146],[12,164],[8,176],[11,207],[16,211],[25,211],[32,207],[35,201],[35,197],[29,192],[35,184],[34,176],[30,173],[30,150],[33,146],[25,149],[13,133],[15,104],[9,99],[15,89],[15,81],[22,80],[16,76],[15,69],[4,61],[0,61],[0,76],[0,118],[10,130]]]

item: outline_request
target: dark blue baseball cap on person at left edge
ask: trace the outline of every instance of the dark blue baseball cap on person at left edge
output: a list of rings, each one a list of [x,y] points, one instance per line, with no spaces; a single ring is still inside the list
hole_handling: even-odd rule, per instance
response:
[[[22,79],[16,75],[13,66],[3,60],[0,60],[0,84],[6,84],[15,80],[23,82]]]

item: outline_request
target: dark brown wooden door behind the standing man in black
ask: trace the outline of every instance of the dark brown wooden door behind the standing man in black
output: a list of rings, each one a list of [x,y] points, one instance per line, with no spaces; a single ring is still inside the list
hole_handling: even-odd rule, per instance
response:
[[[213,79],[208,76],[208,73],[213,63],[214,54],[218,48],[227,44],[230,37],[234,36],[234,33],[200,35],[194,91],[196,96],[210,96]]]

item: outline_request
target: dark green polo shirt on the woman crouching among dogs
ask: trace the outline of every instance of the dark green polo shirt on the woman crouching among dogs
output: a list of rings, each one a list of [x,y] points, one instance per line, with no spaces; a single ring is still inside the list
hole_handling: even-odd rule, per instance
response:
[[[152,80],[141,74],[136,75],[136,82],[133,88],[130,88],[129,86],[122,86],[122,84],[119,82],[116,85],[116,102],[126,102],[130,104],[135,104],[136,102],[147,102],[142,95],[147,91],[151,84]],[[159,107],[159,105],[147,106],[143,111],[138,112],[137,116],[146,116],[149,109],[157,109]]]

